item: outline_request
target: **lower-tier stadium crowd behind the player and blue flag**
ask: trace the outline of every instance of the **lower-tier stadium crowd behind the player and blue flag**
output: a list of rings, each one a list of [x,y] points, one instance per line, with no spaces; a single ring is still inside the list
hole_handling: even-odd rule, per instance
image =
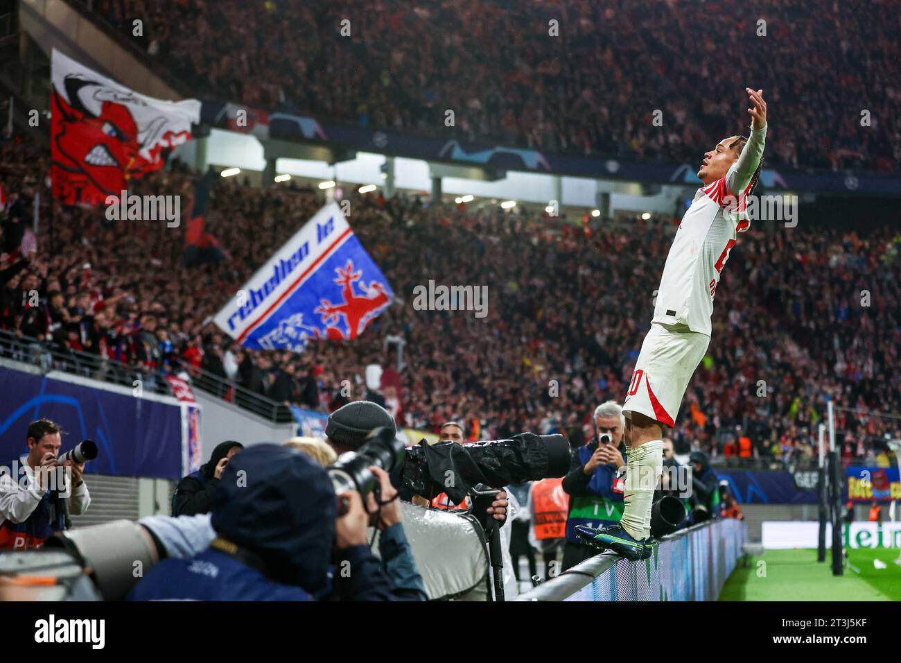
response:
[[[46,152],[21,137],[0,143],[0,329],[99,355],[100,377],[126,367],[150,380],[186,373],[236,398],[219,382],[204,384],[203,369],[326,412],[366,396],[366,366],[381,364],[381,391],[399,424],[437,432],[460,420],[480,438],[560,431],[578,445],[596,403],[623,398],[674,230],[673,219],[565,223],[519,208],[354,196],[351,225],[396,303],[357,341],[310,345],[302,355],[257,352],[209,317],[312,216],[321,194],[215,178],[206,227],[230,259],[187,268],[183,228],[51,205],[46,173]],[[134,190],[190,198],[192,188],[176,163]],[[901,411],[899,248],[901,236],[887,227],[762,225],[742,235],[717,290],[714,340],[673,431],[677,446],[729,455],[729,437],[750,437],[754,456],[804,458],[827,398]],[[414,310],[413,288],[429,280],[487,285],[487,318]],[[406,342],[399,373],[387,336]],[[896,425],[840,411],[845,456],[878,452],[874,440],[897,435]]]

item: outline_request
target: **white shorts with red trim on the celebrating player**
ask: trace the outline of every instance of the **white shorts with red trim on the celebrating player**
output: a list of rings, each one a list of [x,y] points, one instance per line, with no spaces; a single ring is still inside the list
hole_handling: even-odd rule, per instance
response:
[[[688,331],[685,325],[652,324],[623,403],[626,419],[640,412],[672,428],[688,381],[709,344],[710,336]]]

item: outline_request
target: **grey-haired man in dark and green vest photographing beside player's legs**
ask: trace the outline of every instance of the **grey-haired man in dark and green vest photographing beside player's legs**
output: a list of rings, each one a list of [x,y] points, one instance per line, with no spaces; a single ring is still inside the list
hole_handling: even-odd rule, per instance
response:
[[[614,525],[623,515],[623,408],[615,401],[598,405],[594,413],[595,438],[572,452],[569,474],[563,478],[563,490],[569,493],[566,543],[563,546],[563,570],[597,554],[582,543],[577,525],[599,528]]]

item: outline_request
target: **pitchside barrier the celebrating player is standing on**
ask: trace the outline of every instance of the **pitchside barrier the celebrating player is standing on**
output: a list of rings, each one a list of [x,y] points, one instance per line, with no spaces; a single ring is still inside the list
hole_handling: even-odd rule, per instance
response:
[[[747,525],[726,518],[660,540],[650,559],[591,557],[517,601],[715,601],[742,557]]]

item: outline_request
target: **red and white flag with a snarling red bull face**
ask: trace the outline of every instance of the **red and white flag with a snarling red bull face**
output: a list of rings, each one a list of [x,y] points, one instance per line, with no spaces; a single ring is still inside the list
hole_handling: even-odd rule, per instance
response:
[[[145,97],[54,49],[50,176],[67,204],[103,204],[163,166],[160,152],[191,138],[196,99]]]

